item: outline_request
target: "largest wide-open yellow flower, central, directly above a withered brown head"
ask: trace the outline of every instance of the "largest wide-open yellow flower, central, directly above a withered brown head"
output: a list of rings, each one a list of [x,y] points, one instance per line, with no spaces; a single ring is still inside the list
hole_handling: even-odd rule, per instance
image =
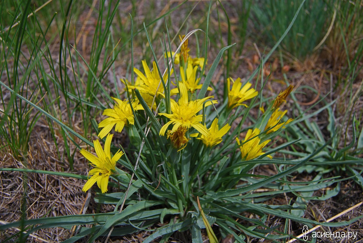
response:
[[[164,135],[166,129],[170,124],[174,124],[172,131],[176,131],[178,127],[182,126],[186,129],[190,127],[194,127],[201,134],[208,135],[208,129],[205,128],[200,122],[202,121],[203,115],[197,115],[197,113],[203,109],[203,103],[213,98],[213,96],[208,96],[200,100],[189,101],[188,102],[188,90],[185,84],[179,84],[180,89],[180,98],[178,103],[175,100],[171,101],[171,112],[172,114],[167,113],[159,113],[159,115],[165,116],[170,119],[161,129],[160,135]],[[213,104],[216,104],[217,101],[213,100]],[[211,105],[210,101],[205,103],[205,106]]]

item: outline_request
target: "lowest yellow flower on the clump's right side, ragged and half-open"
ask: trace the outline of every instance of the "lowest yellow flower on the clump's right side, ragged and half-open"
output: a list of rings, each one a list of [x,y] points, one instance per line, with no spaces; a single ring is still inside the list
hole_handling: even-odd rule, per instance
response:
[[[255,128],[253,131],[252,129],[248,129],[245,139],[241,141],[243,143],[242,145],[240,140],[236,138],[238,145],[240,145],[242,160],[251,160],[265,154],[262,153],[262,148],[265,147],[265,145],[271,140],[269,139],[260,143],[261,139],[258,137],[258,134],[260,134],[260,129],[258,128]],[[246,142],[250,138],[252,139]],[[272,159],[271,155],[267,155],[267,157]]]

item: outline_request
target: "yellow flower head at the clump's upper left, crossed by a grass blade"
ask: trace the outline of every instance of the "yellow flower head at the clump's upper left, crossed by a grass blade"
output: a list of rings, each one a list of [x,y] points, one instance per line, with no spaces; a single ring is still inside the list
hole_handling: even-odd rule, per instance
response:
[[[163,98],[164,96],[164,88],[163,88],[163,84],[160,82],[160,76],[159,76],[159,72],[158,72],[158,68],[156,66],[156,62],[152,62],[152,66],[153,66],[153,70],[152,72],[150,71],[149,67],[146,64],[145,60],[142,60],[142,66],[144,68],[145,74],[146,76],[140,72],[139,69],[134,68],[134,72],[137,74],[138,77],[141,78],[142,80],[142,84],[140,84],[140,86],[129,86],[129,88],[131,89],[139,89],[140,92],[142,93],[148,93],[151,96],[162,96]],[[173,70],[171,70],[170,74],[172,74]],[[166,73],[163,77],[164,82],[166,83],[168,80],[168,74]]]

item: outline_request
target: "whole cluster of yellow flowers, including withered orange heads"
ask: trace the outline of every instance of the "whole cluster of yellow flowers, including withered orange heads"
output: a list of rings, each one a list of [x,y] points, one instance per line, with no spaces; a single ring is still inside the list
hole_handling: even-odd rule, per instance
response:
[[[180,41],[183,40],[184,36],[180,36]],[[293,87],[289,86],[280,92],[277,98],[268,105],[266,112],[264,108],[261,108],[262,116],[257,118],[254,125],[241,129],[241,126],[233,121],[237,116],[241,117],[241,110],[250,109],[250,106],[254,105],[253,98],[256,99],[258,96],[256,86],[252,87],[251,81],[242,82],[240,77],[236,80],[229,77],[224,101],[215,99],[215,96],[211,95],[213,89],[209,86],[210,80],[205,84],[202,82],[203,80],[205,82],[206,77],[203,72],[204,65],[207,63],[205,57],[192,58],[189,52],[188,40],[184,40],[180,53],[165,53],[165,57],[174,56],[172,61],[177,70],[170,68],[170,71],[164,72],[161,77],[156,61],[152,62],[152,69],[150,69],[148,62],[142,60],[141,65],[144,72],[134,68],[133,72],[136,74],[134,81],[121,80],[127,91],[124,93],[129,94],[129,97],[125,97],[125,100],[112,97],[113,108],[105,109],[102,114],[106,117],[98,123],[100,129],[98,137],[101,139],[106,137],[104,149],[97,139],[93,141],[97,156],[85,149],[81,150],[81,154],[94,167],[89,171],[91,177],[84,185],[83,191],[89,190],[96,182],[102,193],[107,191],[109,178],[117,175],[117,162],[123,155],[120,150],[114,155],[111,153],[111,140],[114,134],[120,133],[124,127],[128,127],[127,131],[132,131],[134,135],[136,131],[138,133],[136,137],[141,137],[139,134],[144,131],[140,130],[140,127],[147,130],[146,128],[150,125],[147,116],[150,116],[151,112],[154,112],[155,116],[152,122],[157,121],[160,126],[158,130],[153,127],[152,135],[148,135],[148,138],[153,141],[148,143],[148,153],[155,154],[150,149],[159,152],[158,156],[145,158],[144,166],[157,159],[161,160],[157,161],[160,164],[150,166],[151,169],[147,173],[156,173],[156,171],[163,173],[159,168],[165,164],[164,173],[171,174],[164,175],[164,178],[171,178],[174,186],[178,186],[180,183],[178,180],[182,180],[184,177],[184,175],[177,174],[178,170],[175,170],[175,167],[178,167],[176,165],[178,161],[184,163],[185,159],[189,159],[188,163],[197,165],[196,169],[189,172],[192,180],[196,180],[195,175],[199,171],[200,163],[209,165],[209,153],[213,154],[213,151],[218,151],[221,147],[231,148],[232,146],[234,151],[240,153],[242,161],[264,156],[272,158],[270,154],[264,152],[265,147],[271,141],[267,135],[270,136],[271,133],[284,128],[292,121],[291,118],[285,122],[281,121],[287,110],[281,110],[280,106],[286,101],[286,97]],[[173,77],[175,80],[172,81]],[[172,85],[174,87],[171,88]],[[213,88],[220,89],[221,87],[213,86]],[[201,90],[204,90],[203,96],[200,95]],[[209,95],[206,95],[207,92]],[[255,106],[253,107],[256,108]],[[137,129],[134,127],[135,121],[138,121]],[[160,143],[163,141],[162,139],[168,143]],[[135,144],[132,143],[132,145]],[[143,151],[142,148],[140,151]],[[160,153],[165,154],[160,156]],[[221,151],[220,153],[226,152]],[[204,176],[208,177],[208,174]],[[151,175],[151,177],[157,178],[157,175]],[[188,195],[190,191],[187,190],[185,193]],[[182,205],[178,204],[178,206],[182,210]]]

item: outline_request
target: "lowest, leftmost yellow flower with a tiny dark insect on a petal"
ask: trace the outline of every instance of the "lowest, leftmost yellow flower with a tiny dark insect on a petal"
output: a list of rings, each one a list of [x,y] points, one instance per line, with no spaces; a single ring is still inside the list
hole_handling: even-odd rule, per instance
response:
[[[97,182],[97,186],[101,189],[102,193],[107,191],[107,185],[109,184],[109,177],[114,173],[116,162],[121,158],[123,152],[118,150],[116,154],[111,158],[110,146],[113,134],[108,134],[105,141],[105,149],[102,150],[102,146],[98,140],[94,140],[94,149],[97,157],[85,149],[82,149],[81,154],[90,161],[90,165],[94,168],[88,173],[92,175],[83,186],[82,191],[90,189],[94,183]]]

